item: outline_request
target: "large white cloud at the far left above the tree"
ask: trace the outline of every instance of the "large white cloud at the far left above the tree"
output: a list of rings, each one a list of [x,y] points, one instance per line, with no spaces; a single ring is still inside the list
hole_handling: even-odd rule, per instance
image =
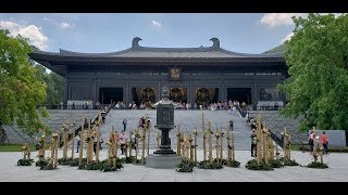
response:
[[[12,36],[28,38],[30,44],[34,44],[40,50],[46,50],[48,47],[48,37],[46,37],[35,25],[23,26],[13,22],[0,21],[1,28],[9,29]]]

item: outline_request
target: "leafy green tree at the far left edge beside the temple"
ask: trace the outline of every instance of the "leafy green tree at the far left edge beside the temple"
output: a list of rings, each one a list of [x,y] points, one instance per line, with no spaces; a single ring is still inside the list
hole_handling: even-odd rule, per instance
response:
[[[13,38],[9,30],[0,29],[0,125],[16,122],[33,135],[39,129],[49,132],[49,128],[40,120],[40,116],[48,117],[47,110],[36,109],[45,101],[46,84],[36,78],[30,51],[27,39]]]

